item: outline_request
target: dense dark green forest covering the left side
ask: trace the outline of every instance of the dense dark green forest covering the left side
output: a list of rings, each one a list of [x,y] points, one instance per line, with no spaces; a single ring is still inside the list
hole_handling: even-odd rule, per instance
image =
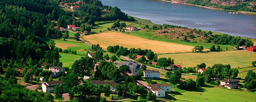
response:
[[[0,1],[0,73],[5,73],[5,77],[0,76],[0,101],[53,101],[53,96],[48,93],[30,91],[17,84],[16,77],[25,75],[24,78],[29,81],[34,76],[36,78],[31,79],[38,81],[42,75],[50,76],[48,71],[41,68],[42,62],[62,66],[55,42],[42,40],[45,37],[55,39],[63,36],[54,29],[55,26],[66,28],[68,24],[76,24],[80,27],[81,24],[94,25],[95,21],[134,20],[117,7],[103,6],[99,0],[84,1],[85,4],[79,4],[81,9],[73,12],[58,7],[59,2],[76,0]],[[106,11],[103,12],[104,9]]]

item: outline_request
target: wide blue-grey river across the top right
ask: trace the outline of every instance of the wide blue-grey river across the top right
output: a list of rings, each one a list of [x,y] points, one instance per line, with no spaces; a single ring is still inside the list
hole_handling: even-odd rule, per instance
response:
[[[173,24],[217,31],[235,36],[256,38],[256,16],[229,14],[229,11],[175,4],[158,0],[101,0],[103,5],[117,6],[126,14],[151,20],[156,24]],[[222,12],[222,13],[217,13]]]

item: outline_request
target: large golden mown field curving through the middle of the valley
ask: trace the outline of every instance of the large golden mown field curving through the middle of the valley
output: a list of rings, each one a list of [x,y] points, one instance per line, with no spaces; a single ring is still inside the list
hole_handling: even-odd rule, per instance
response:
[[[109,45],[119,45],[127,48],[134,47],[151,49],[155,53],[191,52],[191,49],[193,48],[193,46],[149,40],[116,31],[86,35],[83,36],[83,38],[84,40],[89,41],[91,44],[100,44],[100,46],[105,50]]]

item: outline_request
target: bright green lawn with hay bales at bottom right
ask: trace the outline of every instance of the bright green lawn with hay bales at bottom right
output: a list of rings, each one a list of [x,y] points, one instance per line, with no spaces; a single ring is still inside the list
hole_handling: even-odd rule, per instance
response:
[[[202,95],[200,95],[200,93]],[[207,99],[205,99],[207,97]],[[229,90],[221,87],[201,87],[193,91],[176,93],[174,98],[177,101],[195,101],[195,102],[255,102],[256,94],[239,90]]]

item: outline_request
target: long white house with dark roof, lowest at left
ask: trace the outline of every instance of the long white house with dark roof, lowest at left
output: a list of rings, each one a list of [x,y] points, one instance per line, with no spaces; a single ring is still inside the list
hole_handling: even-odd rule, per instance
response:
[[[42,91],[43,92],[54,92],[54,87],[57,85],[62,85],[62,81],[50,81],[42,83]]]

